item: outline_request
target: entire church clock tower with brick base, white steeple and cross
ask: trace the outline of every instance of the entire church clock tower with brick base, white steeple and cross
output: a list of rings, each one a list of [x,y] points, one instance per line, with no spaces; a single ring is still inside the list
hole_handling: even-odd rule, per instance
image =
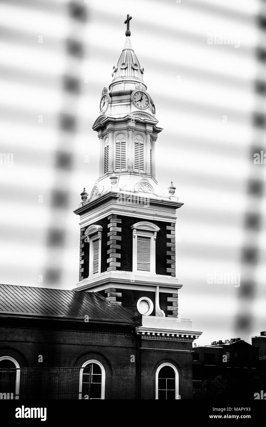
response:
[[[74,211],[80,216],[76,291],[98,292],[110,304],[142,316],[135,331],[142,347],[156,339],[152,347],[175,348],[177,359],[178,348],[182,360],[184,354],[191,359],[192,342],[201,332],[178,316],[182,285],[176,278],[175,222],[183,203],[172,181],[164,193],[156,180],[155,146],[163,129],[131,44],[130,20],[128,15],[126,41],[93,125],[100,144],[99,177],[81,193]]]

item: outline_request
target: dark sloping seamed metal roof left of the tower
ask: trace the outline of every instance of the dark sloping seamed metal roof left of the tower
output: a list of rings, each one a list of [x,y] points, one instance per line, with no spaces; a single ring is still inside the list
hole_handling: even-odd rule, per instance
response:
[[[0,316],[56,317],[136,325],[137,313],[94,292],[0,284]]]

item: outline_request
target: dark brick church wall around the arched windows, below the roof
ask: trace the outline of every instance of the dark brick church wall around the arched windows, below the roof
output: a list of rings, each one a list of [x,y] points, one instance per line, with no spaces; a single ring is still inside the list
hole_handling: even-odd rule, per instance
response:
[[[140,348],[140,359],[137,356],[138,342],[140,347],[147,348]],[[191,398],[191,353],[169,351],[190,351],[191,348],[192,344],[185,341],[140,340],[130,326],[0,319],[0,356],[14,357],[21,368],[28,368],[21,369],[21,398],[22,395],[29,397],[30,393],[39,398],[41,390],[43,395],[50,390],[63,392],[67,396],[64,398],[78,398],[79,369],[91,359],[98,360],[105,368],[106,399],[136,398],[137,366],[141,374],[141,399],[154,399],[156,366],[165,361],[175,363],[180,372],[181,398]],[[39,355],[43,356],[42,363],[38,362]],[[64,375],[60,376],[60,370],[55,367],[64,367]],[[49,381],[48,372],[53,372]]]

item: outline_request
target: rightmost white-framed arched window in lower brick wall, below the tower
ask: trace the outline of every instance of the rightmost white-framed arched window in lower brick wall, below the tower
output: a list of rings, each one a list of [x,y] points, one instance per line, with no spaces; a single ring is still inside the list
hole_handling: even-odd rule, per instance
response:
[[[178,371],[170,363],[163,363],[156,371],[156,395],[159,400],[176,400],[178,395]]]

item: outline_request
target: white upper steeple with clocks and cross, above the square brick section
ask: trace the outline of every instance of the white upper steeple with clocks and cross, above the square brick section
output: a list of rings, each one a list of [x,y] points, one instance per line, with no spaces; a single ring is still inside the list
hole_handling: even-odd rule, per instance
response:
[[[109,91],[107,88],[102,90],[100,115],[93,125],[100,141],[97,185],[103,193],[108,191],[110,177],[115,173],[123,191],[135,192],[146,180],[146,188],[162,196],[155,178],[155,144],[162,129],[155,117],[153,99],[143,81],[144,68],[132,48],[131,19],[128,15],[126,42],[117,65],[113,67]]]

